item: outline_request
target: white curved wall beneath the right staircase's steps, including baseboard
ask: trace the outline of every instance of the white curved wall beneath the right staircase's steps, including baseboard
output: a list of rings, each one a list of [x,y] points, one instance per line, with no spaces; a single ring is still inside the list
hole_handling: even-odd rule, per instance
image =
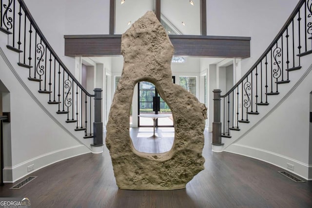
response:
[[[231,132],[234,143],[228,146],[226,140],[225,151],[264,160],[312,179],[311,172],[309,176],[311,56],[303,57],[301,64],[302,69],[290,74],[291,82],[279,87],[280,94],[269,97],[269,106],[259,107],[260,114],[250,116],[250,124],[240,124],[240,132]],[[294,165],[294,170],[287,164]]]

